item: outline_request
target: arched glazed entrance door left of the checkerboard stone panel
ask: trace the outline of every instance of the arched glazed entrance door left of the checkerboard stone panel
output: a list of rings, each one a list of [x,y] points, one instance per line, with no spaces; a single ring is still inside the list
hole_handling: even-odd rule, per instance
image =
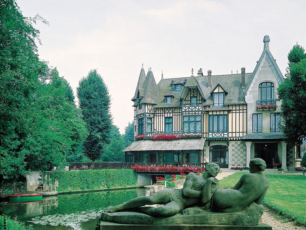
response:
[[[220,168],[229,167],[229,149],[225,145],[214,145],[209,148],[209,162],[218,163]]]

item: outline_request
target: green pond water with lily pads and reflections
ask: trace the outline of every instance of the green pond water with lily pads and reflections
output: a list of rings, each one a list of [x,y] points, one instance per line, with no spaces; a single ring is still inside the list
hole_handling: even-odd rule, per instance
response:
[[[145,188],[43,196],[43,201],[2,202],[2,213],[33,225],[35,230],[94,230],[101,212],[137,196]]]

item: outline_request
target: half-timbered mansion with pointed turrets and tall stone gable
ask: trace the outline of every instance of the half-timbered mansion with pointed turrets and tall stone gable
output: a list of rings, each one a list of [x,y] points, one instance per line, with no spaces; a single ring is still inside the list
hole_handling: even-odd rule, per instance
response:
[[[240,74],[212,75],[208,70],[204,75],[200,69],[196,76],[162,77],[156,84],[151,69],[146,75],[142,68],[132,98],[135,141],[123,150],[126,161],[217,162],[230,168],[260,157],[267,168],[278,159],[285,170],[294,166],[294,148],[280,132],[276,89],[284,77],[269,50],[269,36],[263,42],[252,73],[241,68]],[[179,134],[179,139],[156,138],[161,134]]]

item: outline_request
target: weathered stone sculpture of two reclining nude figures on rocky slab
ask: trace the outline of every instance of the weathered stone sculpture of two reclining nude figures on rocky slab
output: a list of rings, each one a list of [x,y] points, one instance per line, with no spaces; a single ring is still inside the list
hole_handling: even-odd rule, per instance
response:
[[[218,180],[214,177],[219,167],[209,163],[202,176],[189,173],[184,188],[163,189],[149,197],[108,207],[101,220],[137,225],[258,225],[269,182],[262,174],[266,168],[262,159],[252,159],[249,165],[250,173],[244,173],[233,189],[217,190]],[[164,206],[143,207],[146,204]],[[114,213],[123,210],[129,212]],[[266,227],[260,229],[271,229]]]

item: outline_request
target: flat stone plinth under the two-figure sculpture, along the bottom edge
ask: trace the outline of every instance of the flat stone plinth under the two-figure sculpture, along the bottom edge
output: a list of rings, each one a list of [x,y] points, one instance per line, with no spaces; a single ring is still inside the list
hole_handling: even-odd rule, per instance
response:
[[[99,229],[99,228],[96,228]],[[100,230],[272,230],[270,225],[128,225],[101,221]]]

